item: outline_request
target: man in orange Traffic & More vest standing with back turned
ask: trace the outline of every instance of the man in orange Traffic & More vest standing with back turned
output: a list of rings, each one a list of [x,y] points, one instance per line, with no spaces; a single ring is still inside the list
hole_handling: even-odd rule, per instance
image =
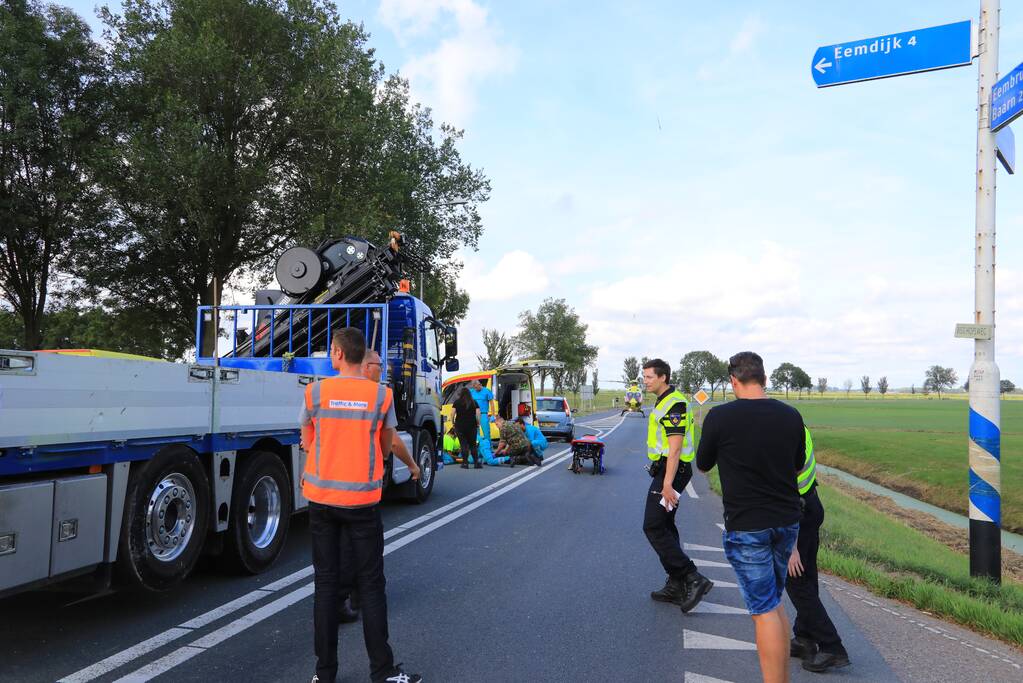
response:
[[[354,587],[360,596],[372,681],[422,680],[395,666],[388,643],[384,523],[379,504],[384,457],[396,437],[397,419],[391,390],[362,376],[365,353],[360,330],[346,327],[335,332],[330,364],[339,375],[306,388],[300,417],[306,451],[302,493],[309,500],[313,552],[313,683],[333,683],[337,678],[339,596]],[[415,462],[405,460],[407,454],[396,455],[417,475]]]

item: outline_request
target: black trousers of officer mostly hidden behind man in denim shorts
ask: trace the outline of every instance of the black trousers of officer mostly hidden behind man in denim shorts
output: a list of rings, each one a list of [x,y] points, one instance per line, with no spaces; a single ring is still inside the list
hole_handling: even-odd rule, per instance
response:
[[[816,489],[803,497],[806,507],[799,521],[799,537],[796,548],[803,563],[803,576],[789,577],[785,589],[796,607],[796,621],[792,632],[817,643],[822,652],[844,654],[845,647],[839,638],[835,624],[820,602],[820,587],[817,584],[817,548],[820,546],[820,525],[825,521],[825,507],[820,504]]]

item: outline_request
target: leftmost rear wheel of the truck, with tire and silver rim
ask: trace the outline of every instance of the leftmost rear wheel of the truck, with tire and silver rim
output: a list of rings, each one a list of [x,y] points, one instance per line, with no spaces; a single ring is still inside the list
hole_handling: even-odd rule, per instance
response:
[[[118,577],[163,591],[195,567],[210,522],[210,482],[195,453],[167,448],[132,467],[118,544]]]

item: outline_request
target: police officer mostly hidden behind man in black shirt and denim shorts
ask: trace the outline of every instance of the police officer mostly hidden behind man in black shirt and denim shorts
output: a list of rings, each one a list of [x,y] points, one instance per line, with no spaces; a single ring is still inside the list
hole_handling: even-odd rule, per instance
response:
[[[831,669],[849,666],[849,654],[835,624],[820,602],[817,585],[817,548],[820,545],[820,525],[825,521],[825,508],[817,496],[817,463],[813,457],[813,438],[805,429],[806,456],[796,485],[803,501],[803,517],[799,521],[799,536],[789,558],[789,581],[785,589],[796,607],[796,621],[792,625],[792,656],[803,661],[803,669],[822,674]]]

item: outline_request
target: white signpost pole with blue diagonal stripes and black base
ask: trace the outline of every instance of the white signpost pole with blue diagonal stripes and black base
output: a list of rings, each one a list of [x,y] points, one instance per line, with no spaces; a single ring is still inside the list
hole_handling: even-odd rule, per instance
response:
[[[980,0],[977,75],[977,230],[974,323],[994,325],[995,147],[991,88],[998,78],[998,0]],[[970,367],[970,574],[1002,581],[1000,376],[994,332],[975,339]]]

